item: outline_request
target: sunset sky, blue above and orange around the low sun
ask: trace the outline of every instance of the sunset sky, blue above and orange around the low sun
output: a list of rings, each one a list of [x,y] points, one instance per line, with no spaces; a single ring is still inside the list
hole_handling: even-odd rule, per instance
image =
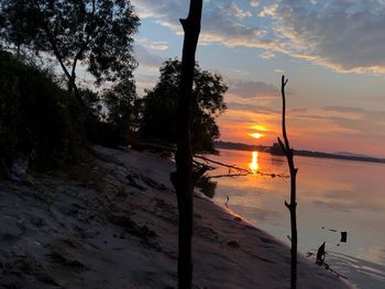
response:
[[[131,0],[138,90],[180,59],[188,0]],[[226,142],[280,135],[280,77],[295,148],[385,157],[385,0],[205,0],[197,60],[229,86]],[[252,135],[257,136],[254,138]]]

